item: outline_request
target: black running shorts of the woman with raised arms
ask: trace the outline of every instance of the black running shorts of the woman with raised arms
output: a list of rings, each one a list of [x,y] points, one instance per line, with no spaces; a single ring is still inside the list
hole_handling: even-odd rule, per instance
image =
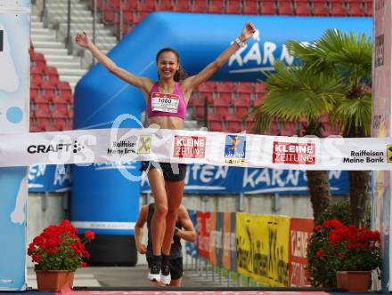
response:
[[[167,181],[181,181],[186,176],[186,163],[162,163],[142,161],[140,171],[158,168],[163,173],[163,178]]]

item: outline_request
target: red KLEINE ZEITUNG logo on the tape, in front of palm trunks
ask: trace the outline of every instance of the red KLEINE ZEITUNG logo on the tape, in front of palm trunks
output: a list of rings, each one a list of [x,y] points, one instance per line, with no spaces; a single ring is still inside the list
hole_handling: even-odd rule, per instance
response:
[[[314,143],[294,143],[274,141],[273,163],[315,163]]]

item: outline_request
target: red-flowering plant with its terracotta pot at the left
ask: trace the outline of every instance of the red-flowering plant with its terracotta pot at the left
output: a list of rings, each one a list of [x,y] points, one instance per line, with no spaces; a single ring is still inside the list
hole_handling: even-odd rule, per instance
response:
[[[72,288],[75,270],[86,267],[90,257],[85,243],[94,240],[92,231],[86,231],[82,239],[77,234],[78,229],[64,219],[59,225],[46,227],[29,244],[39,291],[60,291],[66,285]]]

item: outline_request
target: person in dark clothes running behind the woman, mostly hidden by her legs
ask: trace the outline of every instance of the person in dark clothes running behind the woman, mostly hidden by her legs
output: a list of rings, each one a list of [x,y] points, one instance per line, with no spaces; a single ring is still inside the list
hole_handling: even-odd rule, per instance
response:
[[[135,245],[137,251],[141,254],[146,254],[149,267],[152,263],[152,243],[151,243],[151,219],[154,214],[154,203],[143,205],[139,212],[135,224]],[[147,246],[142,243],[143,227],[147,223]],[[189,218],[188,211],[184,205],[180,205],[177,211],[175,234],[173,235],[173,243],[170,247],[170,286],[181,286],[181,278],[183,277],[183,250],[181,239],[194,243],[196,241],[196,232],[194,230],[192,220]],[[160,285],[159,282],[154,282]]]

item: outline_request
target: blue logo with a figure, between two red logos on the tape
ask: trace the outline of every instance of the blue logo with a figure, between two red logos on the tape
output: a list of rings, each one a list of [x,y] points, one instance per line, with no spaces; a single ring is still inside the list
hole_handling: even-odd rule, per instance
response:
[[[226,135],[225,139],[225,163],[246,163],[246,136]]]

